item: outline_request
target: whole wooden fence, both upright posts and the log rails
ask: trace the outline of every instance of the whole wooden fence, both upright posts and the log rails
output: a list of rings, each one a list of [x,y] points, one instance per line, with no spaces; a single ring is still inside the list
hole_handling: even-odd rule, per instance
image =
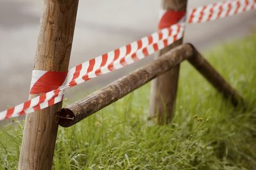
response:
[[[186,10],[187,0],[162,0],[162,4],[166,10]],[[78,0],[44,0],[36,50],[36,69],[67,71],[77,6]],[[61,103],[59,103],[42,111],[28,114],[20,151],[19,169],[51,169],[59,124],[63,127],[70,127],[160,75],[163,77],[157,79],[156,84],[161,82],[165,88],[153,86],[155,94],[152,94],[153,104],[152,102],[151,104],[156,106],[156,102],[158,102],[156,91],[161,88],[159,95],[164,95],[166,100],[170,101],[168,105],[171,105],[168,109],[167,120],[163,119],[161,108],[159,111],[156,111],[154,107],[150,110],[160,113],[158,115],[159,124],[169,123],[175,103],[179,64],[184,60],[188,60],[225,98],[230,98],[232,104],[237,105],[243,101],[223,77],[202,58],[193,45],[180,44],[182,44],[182,40],[161,50],[161,57],[150,65],[68,105],[67,108],[61,109]],[[177,47],[177,45],[180,46]],[[173,47],[175,48],[173,49]],[[163,80],[166,81],[163,82]]]

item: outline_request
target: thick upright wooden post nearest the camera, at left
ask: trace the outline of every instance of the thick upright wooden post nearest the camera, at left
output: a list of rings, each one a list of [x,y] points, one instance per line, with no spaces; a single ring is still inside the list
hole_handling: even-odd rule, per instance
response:
[[[66,72],[78,0],[44,0],[35,69]],[[29,98],[35,97],[29,96]],[[61,104],[26,116],[19,169],[51,169]]]

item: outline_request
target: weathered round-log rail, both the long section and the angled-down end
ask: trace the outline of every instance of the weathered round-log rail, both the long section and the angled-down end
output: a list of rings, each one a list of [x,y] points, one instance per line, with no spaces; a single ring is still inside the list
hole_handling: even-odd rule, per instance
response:
[[[74,104],[61,109],[58,112],[60,125],[70,127],[84,118],[92,115],[100,109],[112,104],[124,97],[134,89],[143,86],[159,75],[168,72],[182,61],[188,59],[195,68],[211,82],[211,84],[223,93],[224,97],[231,98],[232,104],[237,105],[242,98],[226,82],[221,75],[200,55],[191,44],[184,44],[166,52],[161,58],[156,59],[150,65],[144,66],[135,72],[122,77],[108,86],[95,91],[88,97],[78,100]]]

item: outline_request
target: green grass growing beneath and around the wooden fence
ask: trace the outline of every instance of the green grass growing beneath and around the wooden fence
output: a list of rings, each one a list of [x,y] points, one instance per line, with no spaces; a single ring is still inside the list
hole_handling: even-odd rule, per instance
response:
[[[74,127],[60,128],[53,169],[255,168],[256,34],[204,56],[244,97],[246,109],[234,109],[185,62],[172,124],[148,122],[146,84]],[[1,128],[1,169],[17,169],[22,127]]]

